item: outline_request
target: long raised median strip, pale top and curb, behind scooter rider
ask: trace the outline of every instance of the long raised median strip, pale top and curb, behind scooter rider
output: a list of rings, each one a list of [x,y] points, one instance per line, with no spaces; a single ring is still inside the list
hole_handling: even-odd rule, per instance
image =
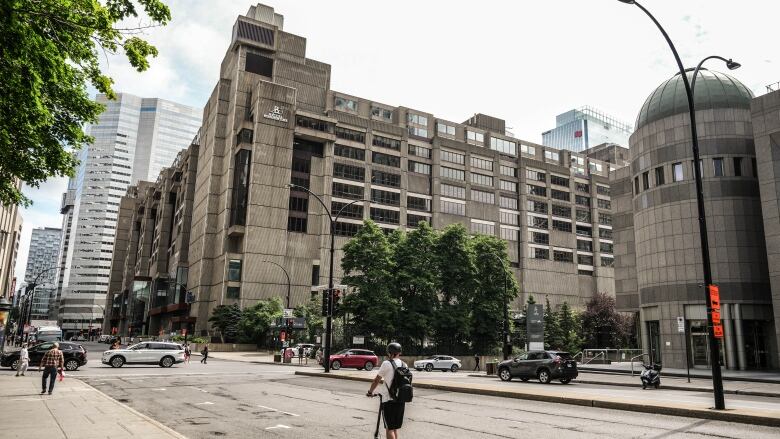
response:
[[[360,376],[348,373],[323,373],[310,371],[295,371],[295,375],[331,378],[340,380],[369,382],[372,376]],[[552,402],[559,404],[579,405],[586,407],[596,407],[604,409],[625,410],[641,413],[654,413],[660,415],[682,416],[688,418],[710,419],[715,421],[738,422],[743,424],[765,425],[770,427],[780,427],[780,416],[778,411],[760,410],[760,409],[731,409],[731,410],[712,410],[708,407],[701,407],[692,404],[662,404],[659,401],[642,401],[641,404],[627,401],[625,398],[609,397],[582,397],[577,395],[565,394],[565,391],[552,393],[550,391],[540,391],[534,389],[533,392],[523,389],[506,389],[496,385],[489,384],[465,384],[452,383],[445,381],[436,381],[428,379],[416,379],[414,386],[420,389],[441,390],[447,392],[467,393],[473,395],[496,396],[502,398],[526,399],[541,402]],[[563,394],[562,394],[563,393]],[[780,409],[779,409],[780,410]]]

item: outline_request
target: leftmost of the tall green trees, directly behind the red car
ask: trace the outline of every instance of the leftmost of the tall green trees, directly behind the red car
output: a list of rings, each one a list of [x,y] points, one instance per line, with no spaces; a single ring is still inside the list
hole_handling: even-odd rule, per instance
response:
[[[366,220],[343,250],[342,281],[354,292],[344,298],[342,310],[351,315],[352,333],[388,340],[396,334],[399,310],[397,294],[391,292],[390,243],[376,223]]]

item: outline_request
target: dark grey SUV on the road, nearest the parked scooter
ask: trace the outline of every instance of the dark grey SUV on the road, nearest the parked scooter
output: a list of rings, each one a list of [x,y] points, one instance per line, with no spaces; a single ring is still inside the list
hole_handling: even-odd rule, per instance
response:
[[[518,377],[523,382],[538,378],[542,384],[552,380],[561,380],[563,384],[568,384],[577,378],[577,362],[568,352],[530,351],[499,363],[498,377],[502,381]]]

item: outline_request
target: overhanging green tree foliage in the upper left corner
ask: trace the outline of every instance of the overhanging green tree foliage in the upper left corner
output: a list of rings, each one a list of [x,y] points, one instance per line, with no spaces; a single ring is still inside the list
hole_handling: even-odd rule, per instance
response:
[[[150,23],[121,27],[143,7]],[[157,49],[137,36],[171,19],[161,0],[4,0],[0,2],[0,204],[29,205],[18,181],[38,187],[72,176],[73,150],[91,138],[82,127],[102,106],[90,84],[115,97],[100,69],[101,53],[124,50],[139,72]]]

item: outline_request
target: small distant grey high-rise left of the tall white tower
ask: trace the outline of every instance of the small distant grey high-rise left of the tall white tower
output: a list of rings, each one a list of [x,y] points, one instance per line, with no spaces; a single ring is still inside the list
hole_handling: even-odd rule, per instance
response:
[[[30,319],[49,320],[49,303],[57,295],[57,261],[59,259],[62,230],[53,227],[35,228],[27,253],[24,281],[31,284],[37,279],[32,297]]]

